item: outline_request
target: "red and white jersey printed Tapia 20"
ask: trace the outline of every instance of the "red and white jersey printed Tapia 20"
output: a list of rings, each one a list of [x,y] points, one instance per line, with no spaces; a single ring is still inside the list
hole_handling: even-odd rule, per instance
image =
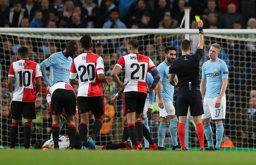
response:
[[[75,57],[70,70],[70,79],[79,76],[77,96],[103,96],[98,74],[104,73],[104,64],[101,56],[92,52],[84,52]]]

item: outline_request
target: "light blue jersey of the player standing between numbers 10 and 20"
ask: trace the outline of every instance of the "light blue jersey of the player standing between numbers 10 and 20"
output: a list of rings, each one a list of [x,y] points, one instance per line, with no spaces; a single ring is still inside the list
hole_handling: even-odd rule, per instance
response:
[[[50,88],[57,81],[69,83],[69,72],[73,59],[65,57],[62,52],[53,53],[45,59],[39,66],[42,69],[43,79]],[[50,78],[48,79],[45,68],[50,66]],[[47,89],[48,89],[47,88]]]

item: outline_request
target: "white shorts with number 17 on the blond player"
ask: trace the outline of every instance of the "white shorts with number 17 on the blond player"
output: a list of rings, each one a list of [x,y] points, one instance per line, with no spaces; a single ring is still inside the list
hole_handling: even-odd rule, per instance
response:
[[[204,98],[203,99],[203,112],[202,119],[211,117],[212,119],[225,119],[226,115],[226,96],[221,98],[221,106],[215,108],[215,103],[218,97]]]

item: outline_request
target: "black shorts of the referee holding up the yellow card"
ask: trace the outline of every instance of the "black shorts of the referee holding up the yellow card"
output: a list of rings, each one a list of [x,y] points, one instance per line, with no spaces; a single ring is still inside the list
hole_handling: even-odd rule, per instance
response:
[[[189,106],[191,116],[204,114],[202,95],[198,86],[192,86],[191,91],[189,91],[188,86],[180,86],[177,91],[175,114],[178,116],[187,116]]]

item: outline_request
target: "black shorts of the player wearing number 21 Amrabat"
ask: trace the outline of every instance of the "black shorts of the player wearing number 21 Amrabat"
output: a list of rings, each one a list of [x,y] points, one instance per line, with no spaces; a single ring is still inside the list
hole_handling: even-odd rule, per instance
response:
[[[144,110],[147,93],[129,91],[123,93],[123,113],[136,112],[140,114]]]

